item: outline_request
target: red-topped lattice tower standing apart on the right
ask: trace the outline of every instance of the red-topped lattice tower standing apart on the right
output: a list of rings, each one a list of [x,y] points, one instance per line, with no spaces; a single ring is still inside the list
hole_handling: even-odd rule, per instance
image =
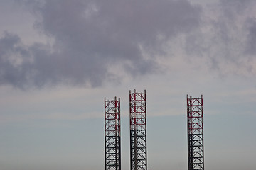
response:
[[[203,157],[203,95],[188,98],[188,170],[204,170]]]

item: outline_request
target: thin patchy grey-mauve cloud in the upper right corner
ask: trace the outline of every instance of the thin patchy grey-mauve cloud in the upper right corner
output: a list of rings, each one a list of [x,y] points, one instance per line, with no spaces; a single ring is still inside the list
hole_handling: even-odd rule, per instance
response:
[[[201,29],[186,36],[188,55],[205,57],[219,74],[254,74],[255,6],[252,0],[223,0],[204,8]]]

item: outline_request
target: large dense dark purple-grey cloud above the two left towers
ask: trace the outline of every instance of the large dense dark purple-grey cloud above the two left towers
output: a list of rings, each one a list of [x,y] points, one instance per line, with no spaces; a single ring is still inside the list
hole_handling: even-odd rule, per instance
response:
[[[23,47],[18,36],[9,33],[0,39],[0,82],[21,88],[60,83],[100,86],[126,74],[158,72],[154,56],[162,52],[161,45],[191,32],[201,20],[201,8],[186,0],[25,2],[38,16],[36,28],[53,38],[54,45]],[[22,62],[10,61],[17,56]],[[120,76],[117,66],[126,74]]]

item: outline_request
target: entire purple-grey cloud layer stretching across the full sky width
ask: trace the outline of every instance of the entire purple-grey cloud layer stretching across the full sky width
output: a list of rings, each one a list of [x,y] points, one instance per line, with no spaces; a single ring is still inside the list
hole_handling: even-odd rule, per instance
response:
[[[196,64],[220,74],[256,73],[255,1],[223,0],[209,6],[188,0],[23,4],[37,16],[36,29],[53,43],[28,46],[19,35],[2,33],[1,85],[26,89],[122,82],[124,77],[161,72],[159,56],[178,57],[177,45],[188,61],[202,58]]]

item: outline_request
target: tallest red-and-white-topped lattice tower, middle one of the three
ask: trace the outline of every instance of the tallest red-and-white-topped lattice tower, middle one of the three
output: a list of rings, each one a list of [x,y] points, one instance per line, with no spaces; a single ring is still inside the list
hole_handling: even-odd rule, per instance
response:
[[[146,170],[146,90],[129,91],[131,170]]]

